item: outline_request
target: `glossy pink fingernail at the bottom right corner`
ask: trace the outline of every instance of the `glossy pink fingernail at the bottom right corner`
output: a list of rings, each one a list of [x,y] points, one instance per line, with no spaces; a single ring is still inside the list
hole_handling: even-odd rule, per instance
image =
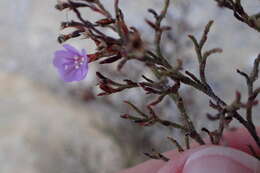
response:
[[[212,146],[191,154],[183,173],[260,173],[260,162],[232,148]]]

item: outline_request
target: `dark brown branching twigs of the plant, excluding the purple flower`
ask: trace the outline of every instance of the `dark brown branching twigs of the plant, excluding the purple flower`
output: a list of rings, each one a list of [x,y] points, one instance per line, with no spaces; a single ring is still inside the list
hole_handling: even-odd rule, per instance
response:
[[[246,23],[257,31],[260,31],[260,25],[256,23],[256,21],[260,19],[260,14],[253,16],[248,15],[240,0],[215,1],[219,6],[232,10],[234,16],[238,20]],[[227,104],[215,94],[214,90],[208,84],[205,72],[208,58],[212,54],[222,52],[222,49],[220,48],[203,50],[205,44],[207,43],[208,34],[213,25],[213,21],[209,21],[209,23],[205,26],[204,32],[199,40],[193,35],[189,35],[189,38],[194,45],[199,63],[198,77],[187,70],[183,73],[181,60],[177,60],[175,65],[171,65],[164,56],[161,50],[162,34],[169,30],[170,27],[162,26],[162,21],[167,15],[169,5],[170,0],[165,0],[163,9],[160,13],[157,13],[154,9],[148,10],[155,19],[155,21],[146,20],[148,25],[151,26],[155,32],[155,50],[150,50],[146,47],[145,42],[141,38],[141,34],[136,28],[128,27],[124,19],[124,13],[119,7],[119,0],[114,0],[115,17],[113,17],[113,15],[106,9],[100,0],[69,0],[67,2],[59,3],[56,6],[58,10],[69,9],[73,11],[76,14],[77,20],[62,22],[61,29],[73,28],[74,31],[69,34],[60,35],[58,40],[60,43],[63,43],[69,39],[84,36],[87,39],[93,40],[97,47],[97,51],[94,54],[88,55],[89,63],[99,61],[100,64],[107,65],[119,62],[118,70],[121,70],[129,60],[136,60],[137,62],[140,62],[148,67],[154,76],[157,77],[157,80],[151,80],[150,78],[142,75],[144,81],[134,82],[132,80],[125,79],[123,82],[119,83],[97,72],[97,77],[99,79],[98,86],[102,90],[102,93],[99,94],[100,96],[119,93],[132,88],[140,88],[145,91],[146,94],[151,94],[156,97],[155,100],[146,105],[148,113],[143,112],[131,102],[125,101],[125,103],[139,116],[124,114],[121,116],[122,118],[131,120],[134,123],[144,127],[160,124],[168,128],[180,129],[185,133],[185,144],[187,149],[190,148],[190,138],[201,145],[205,144],[201,135],[196,130],[194,122],[191,121],[190,115],[188,114],[186,108],[188,105],[184,104],[184,99],[179,92],[181,84],[185,84],[204,93],[212,99],[210,101],[210,107],[217,111],[217,113],[215,116],[211,114],[208,114],[208,116],[211,119],[219,120],[219,127],[214,131],[209,131],[206,128],[203,128],[202,131],[209,135],[213,144],[220,143],[224,128],[227,127],[233,119],[237,119],[249,131],[258,147],[260,147],[260,138],[256,132],[256,128],[252,120],[252,109],[258,103],[256,97],[260,93],[260,87],[256,89],[254,88],[254,83],[258,79],[260,55],[256,58],[253,70],[250,74],[237,70],[237,72],[242,75],[247,82],[247,102],[242,102],[241,94],[237,92],[234,101]],[[83,18],[79,8],[88,8],[93,13],[101,14],[104,18],[92,23]],[[112,29],[112,31],[117,34],[117,37],[107,35],[103,32],[101,27]],[[152,107],[161,103],[167,96],[169,96],[176,104],[183,120],[182,124],[161,119],[161,117],[153,110]],[[246,109],[246,118],[238,113],[238,110],[240,109]],[[173,138],[169,139],[178,147],[179,151],[184,151],[183,147],[181,147],[176,140]],[[146,153],[146,155],[153,159],[161,159],[164,161],[168,160],[168,158],[158,152],[154,152],[153,154]]]

